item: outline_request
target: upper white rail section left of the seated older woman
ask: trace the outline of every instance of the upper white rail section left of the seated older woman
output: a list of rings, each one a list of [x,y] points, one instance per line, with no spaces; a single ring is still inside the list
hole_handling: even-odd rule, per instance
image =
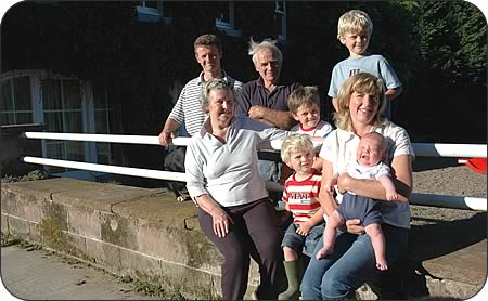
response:
[[[159,145],[159,138],[153,136],[153,135],[114,135],[114,134],[24,132],[24,136],[28,138],[28,139],[51,139],[51,140]],[[187,146],[189,143],[190,143],[190,138],[188,138],[188,136],[178,136],[172,140],[174,145]]]

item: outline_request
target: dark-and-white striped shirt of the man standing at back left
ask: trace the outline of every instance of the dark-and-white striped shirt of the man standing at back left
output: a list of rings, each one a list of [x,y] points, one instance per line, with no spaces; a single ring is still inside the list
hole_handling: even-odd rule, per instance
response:
[[[234,87],[235,97],[239,97],[243,83],[239,80],[228,76],[222,70],[223,79],[230,82]],[[202,109],[202,88],[205,81],[203,80],[204,74],[201,73],[197,78],[190,80],[181,90],[180,96],[177,103],[172,107],[168,118],[177,121],[179,125],[184,122],[187,132],[193,136],[200,132],[202,125],[204,123],[207,115]]]

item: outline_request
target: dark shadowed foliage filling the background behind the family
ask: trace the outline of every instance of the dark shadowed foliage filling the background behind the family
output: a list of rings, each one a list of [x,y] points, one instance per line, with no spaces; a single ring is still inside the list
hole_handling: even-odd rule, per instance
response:
[[[184,83],[201,69],[193,56],[196,36],[219,35],[223,68],[244,82],[257,77],[249,38],[277,37],[274,1],[235,2],[241,37],[216,29],[215,1],[165,1],[168,24],[139,22],[136,4],[18,2],[2,19],[2,73],[48,69],[92,80],[121,105],[124,133],[157,134],[172,106],[175,80]],[[395,122],[413,140],[465,132],[486,139],[486,19],[468,2],[287,1],[283,79],[319,86],[330,104],[332,67],[348,56],[336,39],[337,19],[350,9],[370,14],[370,51],[385,56],[403,83],[393,106]]]

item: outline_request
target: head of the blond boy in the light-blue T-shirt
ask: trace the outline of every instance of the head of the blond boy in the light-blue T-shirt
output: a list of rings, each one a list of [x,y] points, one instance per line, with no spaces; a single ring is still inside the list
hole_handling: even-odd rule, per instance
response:
[[[337,39],[349,50],[351,55],[362,55],[370,43],[373,22],[360,10],[343,14],[337,24]]]

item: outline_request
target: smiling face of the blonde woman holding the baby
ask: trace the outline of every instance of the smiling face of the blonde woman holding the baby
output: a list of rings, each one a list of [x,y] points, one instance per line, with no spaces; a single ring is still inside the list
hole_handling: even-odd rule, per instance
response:
[[[369,93],[352,92],[349,112],[352,125],[373,125],[380,107],[380,99]]]

